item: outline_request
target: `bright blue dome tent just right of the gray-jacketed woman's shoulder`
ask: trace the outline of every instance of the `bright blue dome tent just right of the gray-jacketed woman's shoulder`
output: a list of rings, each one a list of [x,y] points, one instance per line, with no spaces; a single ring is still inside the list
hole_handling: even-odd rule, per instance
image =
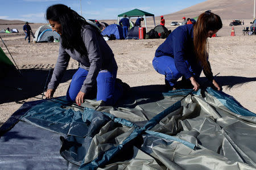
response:
[[[108,27],[106,27],[102,32],[101,35],[105,36],[105,35],[115,35],[115,38],[117,40],[122,40],[124,39],[123,37],[123,28],[120,25],[117,24],[110,24],[108,25]]]

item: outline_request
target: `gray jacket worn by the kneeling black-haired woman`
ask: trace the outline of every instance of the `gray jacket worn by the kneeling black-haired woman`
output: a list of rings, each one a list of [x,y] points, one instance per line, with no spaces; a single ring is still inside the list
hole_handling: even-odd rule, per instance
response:
[[[79,62],[79,67],[89,71],[80,90],[85,94],[96,83],[100,70],[108,70],[110,72],[117,70],[117,63],[115,62],[112,49],[110,49],[101,35],[97,33],[96,29],[92,27],[92,25],[85,25],[81,31],[87,55],[80,56],[77,50],[74,50],[72,53],[71,50],[64,49],[60,40],[59,57],[57,58],[51,81],[48,84],[48,89],[56,90],[57,86],[59,86],[64,71],[68,67],[70,57]]]

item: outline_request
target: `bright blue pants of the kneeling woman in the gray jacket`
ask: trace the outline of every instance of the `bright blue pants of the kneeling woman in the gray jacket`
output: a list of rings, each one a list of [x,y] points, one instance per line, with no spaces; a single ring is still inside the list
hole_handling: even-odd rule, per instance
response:
[[[71,84],[67,91],[67,100],[76,101],[76,96],[80,92],[82,84],[88,75],[88,70],[79,69],[73,75]],[[122,96],[122,86],[115,83],[117,70],[110,73],[107,70],[101,70],[97,76],[97,100],[104,100],[107,105],[113,105]],[[88,94],[86,94],[88,95]]]

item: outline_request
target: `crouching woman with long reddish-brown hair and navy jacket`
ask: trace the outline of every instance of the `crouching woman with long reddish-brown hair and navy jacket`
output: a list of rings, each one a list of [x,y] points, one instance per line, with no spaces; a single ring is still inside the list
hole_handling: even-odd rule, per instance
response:
[[[152,61],[154,69],[165,75],[167,86],[175,88],[177,80],[183,76],[197,91],[200,88],[197,78],[203,70],[217,90],[221,90],[213,78],[207,53],[207,38],[221,28],[220,16],[209,10],[201,14],[195,24],[182,25],[172,31],[156,49]]]

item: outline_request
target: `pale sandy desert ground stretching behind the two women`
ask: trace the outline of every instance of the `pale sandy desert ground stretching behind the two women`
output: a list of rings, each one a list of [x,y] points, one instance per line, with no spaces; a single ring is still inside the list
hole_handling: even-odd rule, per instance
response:
[[[249,27],[250,20],[245,20],[245,25],[235,26],[236,36],[230,36],[232,27],[229,27],[230,20],[224,20],[224,27],[217,33],[218,37],[209,39],[209,59],[213,74],[216,80],[222,85],[226,94],[233,96],[243,107],[256,113],[256,36],[243,36],[243,27]],[[176,27],[169,26],[171,20],[166,21],[168,29]],[[33,32],[42,24],[32,24]],[[19,33],[0,33],[3,41],[7,45],[20,71],[24,75],[30,75],[26,79],[39,84],[31,85],[30,88],[23,89],[22,97],[18,101],[32,101],[41,98],[44,85],[46,83],[49,69],[53,68],[57,59],[59,43],[31,43],[24,41],[23,25],[8,25],[10,28],[18,28]],[[7,25],[0,25],[0,29],[6,29]],[[148,24],[148,30],[154,25]],[[149,86],[152,84],[164,84],[164,76],[156,73],[152,67],[152,59],[156,48],[164,39],[150,40],[113,40],[108,41],[112,48],[118,64],[117,77],[131,87]],[[10,57],[3,42],[1,48]],[[55,92],[55,96],[65,95],[68,85],[71,82],[72,74],[77,69],[76,61],[69,62],[67,74],[63,82]],[[36,75],[38,74],[38,75]],[[201,75],[204,76],[203,74]],[[4,84],[5,88],[9,84]],[[32,93],[31,91],[37,90]],[[5,98],[6,97],[6,98]],[[0,125],[3,124],[22,104],[15,102],[10,97],[1,96],[3,102],[0,104]],[[17,97],[16,97],[17,98]],[[6,100],[5,100],[6,99]]]

